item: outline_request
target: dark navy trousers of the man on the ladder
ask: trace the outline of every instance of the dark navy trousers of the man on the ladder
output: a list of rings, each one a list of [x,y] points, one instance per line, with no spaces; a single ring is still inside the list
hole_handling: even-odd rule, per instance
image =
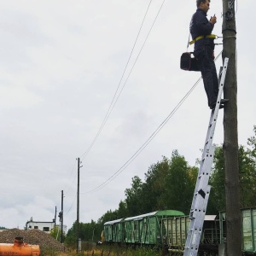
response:
[[[195,50],[195,58],[198,61],[198,67],[204,81],[209,107],[214,105],[218,98],[218,76],[212,55],[212,48],[208,45]]]

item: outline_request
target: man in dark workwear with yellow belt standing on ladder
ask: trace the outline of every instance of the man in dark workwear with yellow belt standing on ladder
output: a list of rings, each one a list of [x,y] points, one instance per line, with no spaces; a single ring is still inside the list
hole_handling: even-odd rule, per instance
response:
[[[218,76],[214,62],[214,42],[212,35],[217,18],[214,15],[207,20],[210,0],[196,0],[197,10],[190,21],[190,33],[193,38],[189,44],[195,44],[194,55],[207,92],[208,106],[214,109],[218,98]],[[219,108],[224,108],[227,99],[222,99]]]

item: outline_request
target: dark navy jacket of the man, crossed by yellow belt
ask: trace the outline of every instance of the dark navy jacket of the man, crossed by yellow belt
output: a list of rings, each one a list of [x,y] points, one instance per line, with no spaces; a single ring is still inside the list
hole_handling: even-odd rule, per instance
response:
[[[202,9],[197,9],[190,21],[190,33],[193,39],[198,36],[207,36],[212,33],[213,24],[207,19],[207,13]],[[195,50],[201,49],[202,46],[209,45],[212,50],[214,43],[212,38],[202,38],[195,42]]]

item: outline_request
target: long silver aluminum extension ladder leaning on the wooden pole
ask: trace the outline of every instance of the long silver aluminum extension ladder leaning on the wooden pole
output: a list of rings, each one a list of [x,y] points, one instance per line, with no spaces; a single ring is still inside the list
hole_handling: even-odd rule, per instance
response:
[[[208,125],[207,139],[204,146],[201,166],[198,172],[198,177],[195,185],[195,193],[189,213],[190,225],[186,244],[184,247],[183,256],[196,256],[201,240],[201,232],[204,224],[205,215],[207,212],[207,203],[209,199],[211,186],[208,185],[209,177],[212,171],[212,161],[215,147],[212,145],[212,138],[215,131],[215,126],[218,118],[218,110],[221,96],[224,88],[224,79],[228,67],[229,59],[224,59],[224,67],[221,71],[221,79],[218,84],[218,100],[215,109],[212,109],[210,122]]]

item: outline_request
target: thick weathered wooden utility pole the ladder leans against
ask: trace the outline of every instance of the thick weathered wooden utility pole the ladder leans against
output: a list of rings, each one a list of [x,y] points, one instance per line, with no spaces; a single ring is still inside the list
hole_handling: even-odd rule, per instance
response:
[[[241,210],[238,166],[236,10],[235,0],[223,0],[223,58],[229,58],[224,83],[224,163],[226,201],[226,256],[241,255]]]

